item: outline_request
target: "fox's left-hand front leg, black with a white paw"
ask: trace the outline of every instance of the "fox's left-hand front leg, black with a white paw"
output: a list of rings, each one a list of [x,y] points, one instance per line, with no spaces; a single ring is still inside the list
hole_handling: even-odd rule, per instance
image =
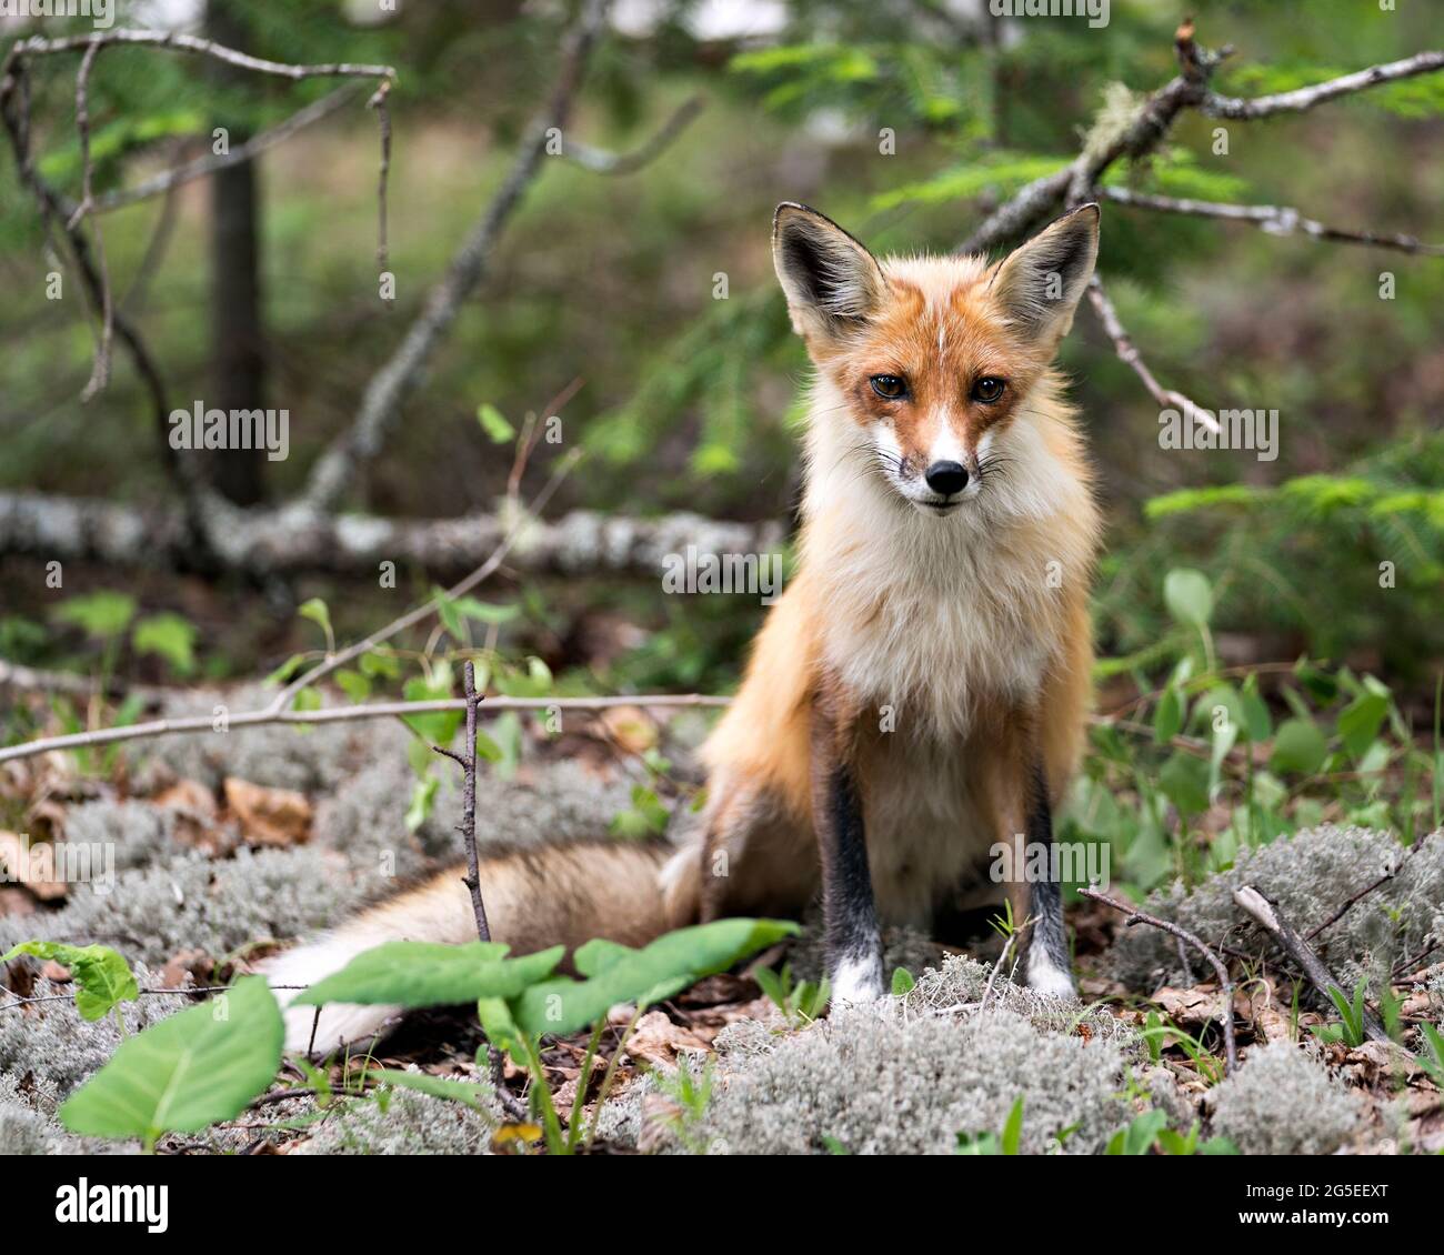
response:
[[[813,823],[822,861],[827,978],[835,1002],[868,1002],[885,992],[882,939],[868,869],[862,797],[849,755],[842,748],[842,726],[830,703],[814,703]]]

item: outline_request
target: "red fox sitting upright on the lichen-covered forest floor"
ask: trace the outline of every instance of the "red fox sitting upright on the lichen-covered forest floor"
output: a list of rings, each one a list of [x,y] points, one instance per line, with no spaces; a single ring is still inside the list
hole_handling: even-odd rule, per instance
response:
[[[998,264],[879,260],[814,209],[778,207],[773,260],[816,367],[799,570],[703,748],[696,833],[485,859],[497,940],[638,944],[721,916],[797,917],[820,891],[832,995],[871,999],[881,923],[926,930],[988,888],[996,843],[1051,845],[1083,747],[1100,533],[1053,358],[1097,230],[1084,205]],[[1018,875],[1006,895],[1028,982],[1071,994],[1058,885]],[[381,942],[474,937],[452,869],[269,976],[312,983]],[[393,1014],[295,1008],[289,1046],[326,1051]]]

